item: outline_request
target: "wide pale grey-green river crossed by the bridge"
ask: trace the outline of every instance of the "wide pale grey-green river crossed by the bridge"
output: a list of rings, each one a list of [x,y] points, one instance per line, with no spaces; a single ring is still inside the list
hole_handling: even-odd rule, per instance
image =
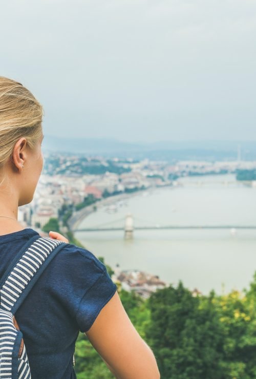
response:
[[[204,294],[248,288],[256,271],[256,228],[154,229],[136,226],[255,226],[256,188],[236,182],[234,175],[188,177],[183,186],[138,193],[108,213],[106,207],[83,219],[79,228],[124,226],[134,217],[134,238],[124,231],[81,231],[75,237],[97,257],[115,268],[139,269],[174,285],[182,280]]]

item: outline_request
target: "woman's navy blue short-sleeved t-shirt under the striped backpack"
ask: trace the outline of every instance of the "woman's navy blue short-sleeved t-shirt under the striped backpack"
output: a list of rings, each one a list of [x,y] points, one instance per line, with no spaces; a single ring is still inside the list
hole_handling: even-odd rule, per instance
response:
[[[0,235],[0,278],[36,235],[32,228]],[[15,314],[33,379],[76,377],[72,362],[78,333],[90,329],[116,289],[89,250],[67,244],[57,253]]]

